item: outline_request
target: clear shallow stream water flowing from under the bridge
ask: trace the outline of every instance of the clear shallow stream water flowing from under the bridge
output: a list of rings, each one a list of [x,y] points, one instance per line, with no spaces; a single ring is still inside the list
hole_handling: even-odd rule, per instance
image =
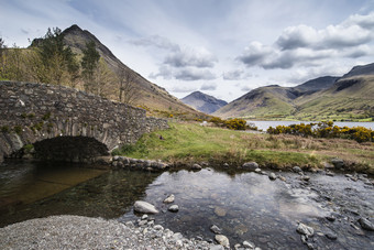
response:
[[[156,224],[187,237],[212,239],[209,228],[217,225],[231,246],[249,240],[263,249],[304,249],[296,232],[301,221],[319,232],[312,243],[321,249],[373,249],[374,233],[356,224],[358,215],[374,217],[372,185],[340,174],[310,174],[309,183],[294,173],[277,174],[287,181],[213,169],[145,173],[10,162],[0,167],[0,200],[19,203],[0,209],[0,227],[63,214],[136,220],[132,205],[141,199],[161,210],[153,216]],[[169,194],[178,213],[163,204]],[[329,215],[337,220],[328,221]],[[338,239],[324,237],[328,231]]]

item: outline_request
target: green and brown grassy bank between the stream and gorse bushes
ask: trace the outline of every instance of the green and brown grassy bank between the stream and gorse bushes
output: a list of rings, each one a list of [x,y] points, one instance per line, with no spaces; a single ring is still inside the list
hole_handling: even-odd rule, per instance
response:
[[[249,133],[196,123],[169,124],[170,129],[144,134],[136,144],[113,153],[183,164],[227,162],[232,167],[255,161],[262,166],[275,169],[295,165],[323,167],[326,162],[340,157],[350,163],[353,170],[374,174],[373,143]]]

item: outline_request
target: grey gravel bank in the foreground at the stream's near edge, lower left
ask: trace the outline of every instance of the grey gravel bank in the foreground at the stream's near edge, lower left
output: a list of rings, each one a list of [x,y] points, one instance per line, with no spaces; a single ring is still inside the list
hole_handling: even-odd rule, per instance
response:
[[[223,249],[160,225],[134,227],[82,216],[52,216],[0,228],[0,249]]]

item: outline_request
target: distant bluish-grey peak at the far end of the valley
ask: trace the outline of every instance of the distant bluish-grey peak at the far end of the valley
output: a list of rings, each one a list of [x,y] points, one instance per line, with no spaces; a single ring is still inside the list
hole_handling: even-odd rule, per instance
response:
[[[180,100],[205,113],[212,113],[228,104],[224,100],[217,99],[200,91],[191,93]]]

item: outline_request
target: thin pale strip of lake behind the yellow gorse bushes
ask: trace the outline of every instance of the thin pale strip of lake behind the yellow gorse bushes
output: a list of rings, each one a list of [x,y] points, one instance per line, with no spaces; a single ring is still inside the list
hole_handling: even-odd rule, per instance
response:
[[[299,124],[299,123],[318,123],[318,121],[252,121],[249,120],[246,121],[248,123],[253,123],[255,127],[257,127],[258,130],[263,130],[266,131],[270,127],[277,127],[277,126],[290,126],[290,124]],[[374,122],[353,122],[353,121],[334,121],[333,122],[334,126],[339,126],[339,127],[349,127],[349,128],[353,128],[353,127],[364,127],[366,129],[372,129],[374,130]]]

